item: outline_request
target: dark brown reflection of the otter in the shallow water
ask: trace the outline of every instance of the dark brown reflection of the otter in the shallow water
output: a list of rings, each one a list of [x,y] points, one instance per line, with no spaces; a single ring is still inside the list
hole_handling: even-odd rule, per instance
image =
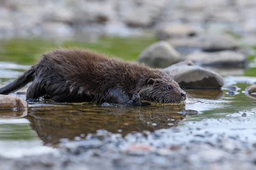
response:
[[[44,144],[57,144],[59,139],[73,140],[80,134],[105,129],[112,133],[122,131],[154,131],[179,125],[185,116],[177,112],[184,106],[101,108],[99,106],[44,108],[29,111],[25,116]],[[153,125],[152,125],[153,123]]]

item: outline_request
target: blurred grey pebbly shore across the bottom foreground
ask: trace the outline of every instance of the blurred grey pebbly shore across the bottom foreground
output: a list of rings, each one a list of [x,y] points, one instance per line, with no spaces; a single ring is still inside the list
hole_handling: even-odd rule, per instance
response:
[[[98,130],[85,140],[62,140],[54,153],[15,159],[0,157],[0,169],[254,170],[255,110],[245,112],[254,115],[251,119],[243,116],[186,122],[185,127],[133,132],[125,138]],[[220,130],[220,125],[225,128]]]

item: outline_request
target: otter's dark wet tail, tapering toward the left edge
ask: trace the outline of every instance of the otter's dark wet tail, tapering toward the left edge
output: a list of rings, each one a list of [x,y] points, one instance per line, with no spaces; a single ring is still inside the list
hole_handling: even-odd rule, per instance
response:
[[[35,73],[35,69],[31,68],[22,74],[20,77],[15,79],[9,85],[6,85],[3,88],[0,88],[0,94],[9,94],[14,91],[19,90],[20,88],[24,87],[29,82],[33,81],[33,74]]]

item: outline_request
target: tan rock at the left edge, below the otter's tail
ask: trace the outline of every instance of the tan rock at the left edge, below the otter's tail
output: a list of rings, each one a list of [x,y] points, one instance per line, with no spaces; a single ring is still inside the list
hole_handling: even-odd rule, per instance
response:
[[[29,105],[21,97],[0,94],[0,109],[29,109]]]

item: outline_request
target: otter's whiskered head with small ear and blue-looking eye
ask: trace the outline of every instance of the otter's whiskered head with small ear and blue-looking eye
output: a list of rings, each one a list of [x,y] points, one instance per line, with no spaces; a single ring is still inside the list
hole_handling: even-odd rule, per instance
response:
[[[143,99],[160,103],[184,103],[186,92],[171,77],[150,78],[146,88],[140,94]]]

